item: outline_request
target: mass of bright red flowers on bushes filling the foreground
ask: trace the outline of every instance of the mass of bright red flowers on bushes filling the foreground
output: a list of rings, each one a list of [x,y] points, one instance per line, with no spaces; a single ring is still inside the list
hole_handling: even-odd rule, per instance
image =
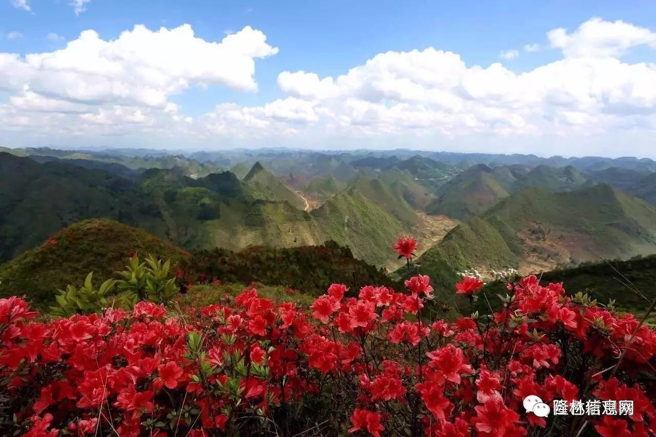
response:
[[[510,437],[576,435],[589,423],[604,437],[656,433],[656,333],[634,316],[529,276],[508,284],[509,301],[489,317],[429,324],[430,280],[405,285],[365,286],[356,298],[333,284],[309,310],[247,289],[184,314],[140,302],[52,322],[0,299],[0,430]],[[481,285],[464,278],[457,293]],[[632,400],[634,411],[543,418],[523,409],[529,394]]]

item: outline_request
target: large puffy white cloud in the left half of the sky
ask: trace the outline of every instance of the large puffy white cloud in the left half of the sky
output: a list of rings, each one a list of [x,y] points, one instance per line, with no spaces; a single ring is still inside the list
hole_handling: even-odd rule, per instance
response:
[[[163,107],[194,85],[256,91],[255,58],[276,53],[264,33],[250,27],[220,42],[195,37],[189,25],[135,26],[112,41],[87,30],[57,51],[0,54],[0,66],[12,66],[0,69],[0,83],[28,84],[34,93],[71,102]]]

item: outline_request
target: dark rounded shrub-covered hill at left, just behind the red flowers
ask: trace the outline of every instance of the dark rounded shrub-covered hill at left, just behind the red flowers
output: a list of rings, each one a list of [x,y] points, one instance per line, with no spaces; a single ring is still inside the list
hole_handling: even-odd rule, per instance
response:
[[[53,234],[40,247],[0,265],[0,296],[28,295],[37,305],[57,289],[81,285],[89,272],[101,283],[122,270],[131,253],[179,262],[189,254],[144,230],[114,220],[83,220]]]

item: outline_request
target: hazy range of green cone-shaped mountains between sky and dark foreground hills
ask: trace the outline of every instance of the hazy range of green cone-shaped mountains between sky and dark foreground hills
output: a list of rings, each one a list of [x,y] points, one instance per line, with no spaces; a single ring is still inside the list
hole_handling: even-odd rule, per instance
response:
[[[409,150],[5,149],[0,261],[109,218],[187,251],[332,240],[376,266],[398,265],[391,242],[420,235],[417,264],[444,283],[465,268],[549,270],[656,253],[655,169],[628,157]]]

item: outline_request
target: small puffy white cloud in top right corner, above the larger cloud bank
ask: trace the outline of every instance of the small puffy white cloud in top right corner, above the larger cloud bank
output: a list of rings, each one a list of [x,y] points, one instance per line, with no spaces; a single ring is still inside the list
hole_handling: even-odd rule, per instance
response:
[[[656,33],[621,20],[592,18],[573,33],[558,28],[547,33],[551,47],[562,49],[568,58],[617,57],[630,47],[647,45],[656,48]]]

